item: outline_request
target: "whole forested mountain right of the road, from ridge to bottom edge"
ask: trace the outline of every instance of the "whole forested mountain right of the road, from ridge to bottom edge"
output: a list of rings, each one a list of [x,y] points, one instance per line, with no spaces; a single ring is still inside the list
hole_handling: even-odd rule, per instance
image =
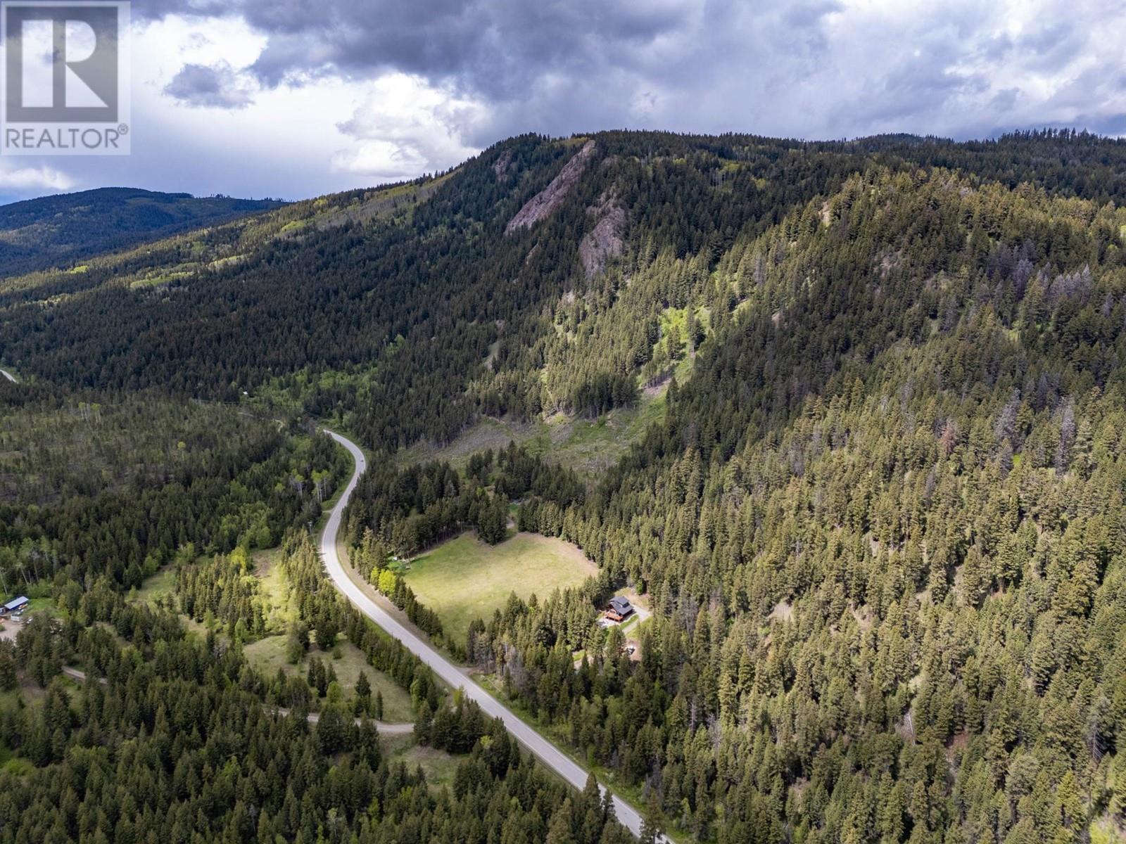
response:
[[[1082,842],[1126,824],[1124,164],[1073,133],[525,136],[6,281],[0,359],[381,456],[660,402],[597,478],[551,443],[374,461],[359,562],[511,503],[581,546],[589,589],[458,647],[685,836]],[[622,585],[636,661],[592,623]]]

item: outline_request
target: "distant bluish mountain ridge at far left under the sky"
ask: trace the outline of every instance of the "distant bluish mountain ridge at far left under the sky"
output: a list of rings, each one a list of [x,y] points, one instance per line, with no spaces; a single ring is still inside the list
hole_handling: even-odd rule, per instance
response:
[[[194,197],[140,188],[97,188],[2,205],[0,276],[65,267],[280,205],[275,199]]]

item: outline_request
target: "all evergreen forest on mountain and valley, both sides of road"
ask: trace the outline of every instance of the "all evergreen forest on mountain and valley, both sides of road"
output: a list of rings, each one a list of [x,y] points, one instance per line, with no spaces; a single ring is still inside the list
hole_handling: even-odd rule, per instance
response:
[[[620,838],[592,791],[545,781],[366,639],[301,530],[347,470],[307,417],[375,455],[347,514],[360,573],[673,834],[1121,837],[1123,173],[1123,143],[1055,131],[522,136],[0,281],[0,361],[25,379],[0,383],[5,577],[77,616],[194,542],[211,559],[180,569],[178,600],[253,637],[236,548],[285,538],[302,649],[347,636],[418,683],[419,740],[468,754],[452,789],[423,787],[364,727],[330,716],[321,739],[263,710],[318,700],[322,677],[257,676],[242,634],[205,645],[161,608],[87,608],[102,626],[29,626],[0,662],[47,689],[0,724],[32,765],[0,774],[0,838]],[[549,437],[403,459],[483,417],[620,411],[650,422],[602,473]],[[501,540],[511,504],[599,574],[448,641],[388,559]],[[653,609],[640,658],[595,623],[622,586]],[[64,692],[73,655],[109,684]],[[175,788],[134,782],[122,753]]]

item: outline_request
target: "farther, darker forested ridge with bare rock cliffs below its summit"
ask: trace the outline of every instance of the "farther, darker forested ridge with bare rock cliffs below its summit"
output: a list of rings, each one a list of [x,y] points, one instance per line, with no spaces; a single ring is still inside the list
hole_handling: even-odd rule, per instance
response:
[[[506,234],[587,141],[590,160],[552,213]],[[297,203],[91,260],[80,273],[9,279],[0,360],[88,387],[226,399],[267,388],[340,414],[373,443],[440,442],[477,413],[627,403],[628,376],[642,368],[644,383],[660,383],[676,362],[668,329],[690,356],[706,325],[697,311],[685,331],[685,286],[736,237],[831,196],[850,173],[942,162],[971,179],[1016,185],[1019,173],[1105,201],[1126,197],[1123,159],[1121,144],[1067,133],[981,149],[900,137],[522,136],[438,179]],[[599,226],[620,250],[591,243]],[[588,272],[584,244],[605,271]],[[632,294],[635,284],[650,289]],[[638,299],[628,321],[599,316],[627,296]]]

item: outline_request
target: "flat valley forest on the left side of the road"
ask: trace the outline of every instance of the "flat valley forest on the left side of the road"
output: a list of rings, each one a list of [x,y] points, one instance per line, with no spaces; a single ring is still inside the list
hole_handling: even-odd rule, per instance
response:
[[[35,483],[0,511],[3,575],[54,610],[0,639],[0,841],[631,839],[593,781],[571,793],[501,725],[447,704],[332,587],[307,531],[348,468],[327,437],[151,395],[33,385],[6,398],[6,470]],[[75,459],[104,488],[66,475]],[[279,541],[294,657],[321,654],[307,679],[262,673],[242,650],[262,634],[248,550]],[[197,560],[197,547],[218,553]],[[132,596],[167,566],[175,596]],[[217,629],[191,632],[205,611]],[[388,756],[365,675],[340,699],[341,641],[409,691],[419,740],[461,754],[450,787]]]

